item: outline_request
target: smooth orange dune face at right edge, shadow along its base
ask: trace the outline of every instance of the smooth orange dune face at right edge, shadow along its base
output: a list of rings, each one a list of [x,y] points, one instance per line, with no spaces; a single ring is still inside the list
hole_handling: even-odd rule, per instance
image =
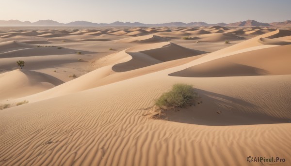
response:
[[[211,60],[172,76],[217,77],[248,75],[291,75],[291,45],[243,52]]]

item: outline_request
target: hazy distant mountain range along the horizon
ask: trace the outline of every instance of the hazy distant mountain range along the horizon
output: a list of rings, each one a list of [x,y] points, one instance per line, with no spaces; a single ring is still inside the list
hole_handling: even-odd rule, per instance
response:
[[[284,22],[273,22],[273,23],[261,23],[255,20],[246,20],[240,21],[235,23],[217,23],[217,24],[208,24],[205,22],[191,22],[191,23],[183,23],[183,22],[170,22],[170,23],[162,23],[162,24],[143,24],[140,22],[113,22],[110,24],[106,23],[93,23],[88,21],[74,21],[67,24],[59,23],[53,20],[39,20],[36,22],[30,21],[19,21],[19,20],[8,20],[8,21],[1,21],[0,26],[137,26],[137,27],[202,27],[202,26],[229,26],[229,27],[267,27],[267,26],[291,26],[291,21],[287,20]]]

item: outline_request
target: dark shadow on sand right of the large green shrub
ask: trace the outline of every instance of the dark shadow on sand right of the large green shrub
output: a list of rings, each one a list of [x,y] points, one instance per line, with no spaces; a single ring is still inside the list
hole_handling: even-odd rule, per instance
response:
[[[169,110],[162,119],[180,123],[226,126],[286,123],[280,119],[267,115],[263,108],[244,100],[230,96],[196,89],[201,97],[195,106]],[[198,104],[199,102],[199,104]]]

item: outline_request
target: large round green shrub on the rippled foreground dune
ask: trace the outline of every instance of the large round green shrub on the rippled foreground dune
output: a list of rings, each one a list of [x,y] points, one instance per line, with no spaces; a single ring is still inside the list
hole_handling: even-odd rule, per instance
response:
[[[155,105],[161,109],[167,108],[184,108],[191,106],[198,98],[198,94],[191,85],[175,84],[171,91],[165,92],[156,100]]]

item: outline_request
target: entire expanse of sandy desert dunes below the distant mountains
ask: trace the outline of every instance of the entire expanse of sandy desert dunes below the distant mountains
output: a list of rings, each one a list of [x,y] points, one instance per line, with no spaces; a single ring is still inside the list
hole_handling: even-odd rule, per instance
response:
[[[290,166],[291,29],[1,27],[0,109],[0,166]]]

